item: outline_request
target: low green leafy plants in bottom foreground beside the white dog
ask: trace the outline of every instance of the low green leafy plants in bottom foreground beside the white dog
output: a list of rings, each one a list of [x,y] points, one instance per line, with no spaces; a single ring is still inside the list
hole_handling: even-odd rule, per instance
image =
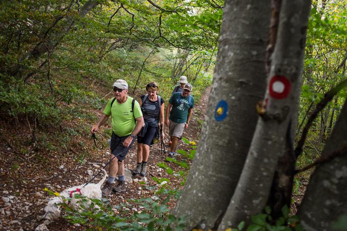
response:
[[[106,230],[182,230],[184,228],[184,217],[176,218],[169,215],[169,209],[159,200],[151,198],[131,199],[127,203],[121,203],[119,206],[112,207],[106,200],[87,199],[80,194],[75,194],[79,199],[78,208],[70,206],[67,202],[71,198],[64,198],[57,192],[45,189],[49,195],[58,196],[62,203],[60,206],[65,210],[64,216],[69,222],[87,225],[88,230],[106,229]],[[170,194],[170,191],[166,191]],[[172,195],[170,195],[172,196]],[[170,197],[169,196],[169,197]],[[168,200],[164,200],[166,203]],[[141,213],[134,212],[130,214],[131,208],[142,208]],[[115,211],[117,213],[115,213]],[[126,216],[128,215],[128,216]]]

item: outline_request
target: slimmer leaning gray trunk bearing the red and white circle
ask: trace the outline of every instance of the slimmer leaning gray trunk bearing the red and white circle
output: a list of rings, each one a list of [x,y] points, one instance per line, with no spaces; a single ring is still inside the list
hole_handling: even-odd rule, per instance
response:
[[[219,229],[236,227],[241,221],[250,222],[251,215],[262,212],[270,191],[272,178],[280,153],[285,147],[285,137],[296,100],[300,96],[296,89],[301,83],[306,29],[310,12],[310,1],[284,0],[281,6],[279,31],[272,55],[269,86],[265,95],[266,112],[259,118],[252,144],[245,161],[235,193]],[[278,81],[271,85],[274,76],[283,76],[284,89],[289,94],[280,98],[270,89],[277,88]],[[288,81],[290,84],[285,84]],[[271,86],[271,88],[270,88]]]

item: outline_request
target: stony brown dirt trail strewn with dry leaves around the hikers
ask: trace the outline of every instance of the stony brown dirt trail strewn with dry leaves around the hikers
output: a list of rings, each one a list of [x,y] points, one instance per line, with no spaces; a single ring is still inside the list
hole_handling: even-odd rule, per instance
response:
[[[199,105],[195,105],[194,117],[192,118],[188,129],[184,132],[183,136],[189,141],[199,143],[199,136],[202,128],[202,121],[206,114],[207,101],[210,88],[208,88],[202,95]],[[6,123],[0,124],[0,132],[3,134],[12,133],[20,134],[18,131],[6,130],[4,126]],[[166,142],[167,144],[167,129]],[[82,138],[83,139],[83,138]],[[8,139],[3,139],[5,142],[0,143],[0,229],[2,230],[33,230],[43,221],[37,219],[38,216],[44,214],[43,208],[49,195],[44,192],[44,188],[52,191],[63,191],[65,188],[80,185],[87,182],[91,178],[90,174],[95,174],[98,171],[98,166],[108,161],[109,151],[97,151],[93,146],[89,136],[84,137],[85,142],[88,143],[86,148],[92,150],[93,155],[86,158],[86,163],[76,161],[76,156],[58,153],[51,156],[54,164],[43,166],[40,164],[31,163],[30,157],[23,156],[20,153],[20,148],[11,146]],[[166,151],[169,150],[165,146]],[[180,142],[179,149],[188,150],[189,147],[183,141]],[[71,153],[77,152],[76,149],[71,148]],[[146,186],[156,186],[157,183],[153,181],[152,176],[167,177],[170,180],[170,187],[182,188],[182,179],[174,175],[167,174],[164,170],[157,166],[157,163],[163,162],[166,155],[160,153],[160,143],[151,147],[150,158],[148,159],[148,171],[146,175]],[[78,153],[76,153],[77,155]],[[177,160],[182,161],[182,156],[177,156]],[[21,162],[19,166],[14,163]],[[186,162],[189,160],[184,159]],[[136,165],[136,143],[129,151],[126,158],[125,165],[128,169],[134,169]],[[167,163],[174,171],[184,170],[174,163]],[[44,169],[42,169],[44,168]],[[14,171],[15,169],[15,171]],[[89,174],[88,174],[89,173]],[[98,177],[100,178],[100,177]],[[139,184],[141,178],[133,179],[133,182],[127,182],[127,192],[122,194],[112,193],[108,196],[111,204],[119,204],[126,202],[130,198],[152,197],[155,190],[151,187],[141,187]],[[95,182],[98,179],[95,179]],[[175,206],[175,201],[169,204],[170,207]],[[133,208],[134,211],[140,212],[141,208]],[[49,230],[82,230],[83,227],[74,226],[69,224],[63,218],[52,222],[47,225]]]

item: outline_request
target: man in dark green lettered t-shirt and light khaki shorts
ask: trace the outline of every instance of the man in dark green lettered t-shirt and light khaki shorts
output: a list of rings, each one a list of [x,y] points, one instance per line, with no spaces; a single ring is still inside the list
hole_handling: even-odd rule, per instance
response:
[[[166,108],[165,123],[169,128],[169,136],[172,141],[168,155],[170,158],[174,157],[178,141],[193,115],[194,98],[190,95],[192,90],[193,86],[190,84],[184,85],[182,92],[171,95]]]

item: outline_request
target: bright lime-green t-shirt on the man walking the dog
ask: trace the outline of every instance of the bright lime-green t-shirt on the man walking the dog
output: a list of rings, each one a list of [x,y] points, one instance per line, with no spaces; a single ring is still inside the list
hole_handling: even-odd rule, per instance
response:
[[[117,100],[114,100],[112,109],[111,102],[113,98],[107,103],[104,110],[105,115],[112,115],[112,130],[117,136],[129,136],[135,128],[135,118],[142,116],[141,108],[138,101],[135,100],[134,115],[131,109],[132,97],[128,96],[127,101],[123,104],[119,104]]]

